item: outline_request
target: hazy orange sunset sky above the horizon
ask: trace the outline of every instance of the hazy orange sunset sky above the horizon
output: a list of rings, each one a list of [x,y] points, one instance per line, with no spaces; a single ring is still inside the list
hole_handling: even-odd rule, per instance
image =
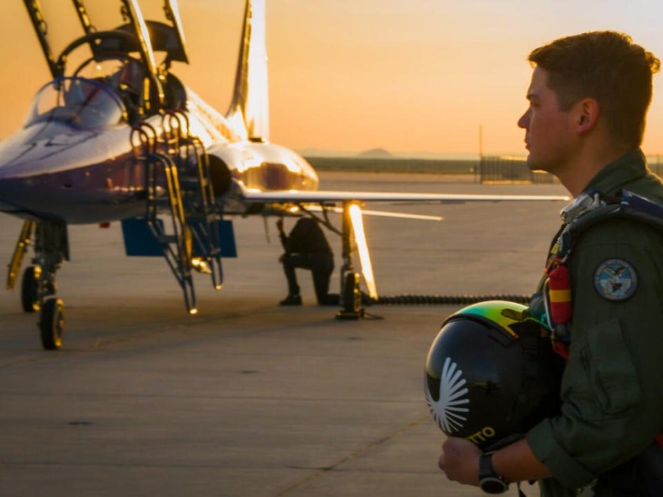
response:
[[[61,6],[61,17],[73,14],[65,0],[41,3]],[[532,48],[575,32],[616,29],[663,57],[660,0],[578,4],[267,0],[271,139],[299,150],[476,153],[482,124],[486,153],[523,153],[515,122],[526,107]],[[243,9],[244,0],[180,0],[191,66],[178,64],[174,72],[222,112]],[[19,128],[48,71],[23,2],[3,1],[0,15],[3,138]],[[663,75],[654,81],[649,154],[663,153]]]

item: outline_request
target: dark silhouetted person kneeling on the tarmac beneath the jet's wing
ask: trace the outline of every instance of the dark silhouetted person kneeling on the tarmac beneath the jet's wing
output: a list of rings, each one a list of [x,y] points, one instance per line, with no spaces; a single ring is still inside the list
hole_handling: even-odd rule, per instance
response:
[[[290,235],[280,233],[285,250],[283,270],[288,280],[288,295],[299,295],[295,268],[310,269],[316,298],[320,305],[337,305],[338,293],[329,293],[329,278],[334,271],[334,254],[325,233],[316,220],[302,217],[292,228]]]

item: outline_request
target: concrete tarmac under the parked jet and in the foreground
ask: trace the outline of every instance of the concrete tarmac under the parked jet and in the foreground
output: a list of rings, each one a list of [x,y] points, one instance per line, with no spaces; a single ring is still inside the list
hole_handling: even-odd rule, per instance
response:
[[[565,193],[440,175],[320,176],[333,190]],[[378,291],[531,293],[563,205],[372,204],[445,217],[365,219]],[[0,226],[8,262],[21,220],[2,215]],[[117,222],[70,226],[61,351],[41,349],[18,289],[0,294],[0,496],[484,495],[437,468],[444,438],[423,396],[428,347],[458,306],[372,306],[369,319],[340,321],[316,306],[300,271],[304,305],[279,307],[274,220],[238,217],[234,228],[239,257],[224,260],[220,292],[197,275],[195,316],[164,260],[124,256]],[[329,238],[334,289],[340,240]]]

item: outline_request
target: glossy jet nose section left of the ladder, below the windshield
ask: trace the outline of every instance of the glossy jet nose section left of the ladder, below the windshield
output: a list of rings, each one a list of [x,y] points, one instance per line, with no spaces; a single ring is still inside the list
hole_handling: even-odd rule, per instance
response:
[[[129,204],[144,180],[130,133],[128,125],[81,130],[48,122],[24,128],[0,143],[0,211],[70,223],[135,215]],[[128,211],[108,213],[124,203]]]

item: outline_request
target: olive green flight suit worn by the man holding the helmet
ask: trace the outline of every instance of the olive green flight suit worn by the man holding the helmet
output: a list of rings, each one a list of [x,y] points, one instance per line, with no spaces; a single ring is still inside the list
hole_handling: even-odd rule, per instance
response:
[[[619,188],[663,204],[663,184],[639,149],[608,164],[586,191]],[[627,297],[610,293],[618,284],[601,286],[619,264],[629,269]],[[663,496],[663,449],[653,442],[663,431],[663,231],[598,222],[579,237],[568,267],[573,319],[561,413],[526,435],[553,474],[541,495]],[[545,312],[541,289],[530,303],[535,315]]]

